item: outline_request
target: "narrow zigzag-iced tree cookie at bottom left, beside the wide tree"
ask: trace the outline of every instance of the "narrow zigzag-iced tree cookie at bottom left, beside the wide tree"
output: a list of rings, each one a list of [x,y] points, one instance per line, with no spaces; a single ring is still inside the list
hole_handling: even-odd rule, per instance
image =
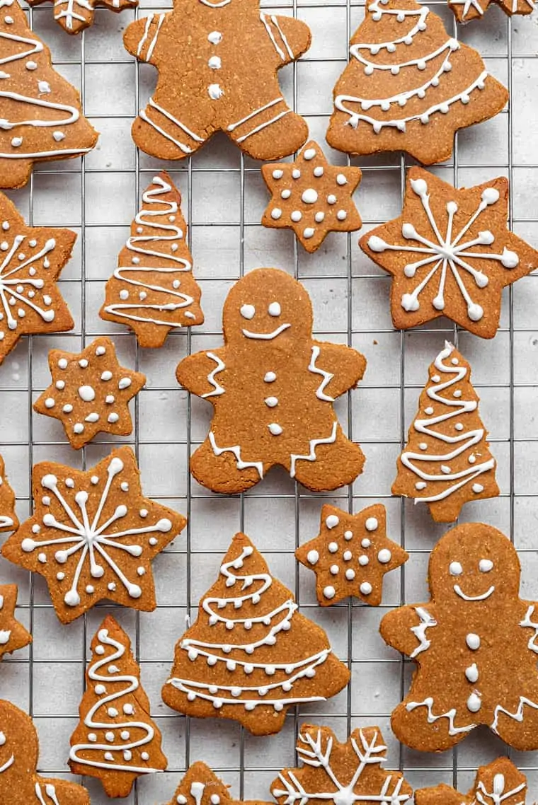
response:
[[[126,797],[140,774],[163,771],[167,759],[130,639],[111,615],[93,636],[91,650],[69,766],[73,774],[99,778],[107,796]]]

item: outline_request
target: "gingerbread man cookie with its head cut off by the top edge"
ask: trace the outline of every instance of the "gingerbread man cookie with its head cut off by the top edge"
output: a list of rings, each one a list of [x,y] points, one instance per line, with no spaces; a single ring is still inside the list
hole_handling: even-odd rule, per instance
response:
[[[123,43],[159,80],[134,142],[157,159],[184,159],[221,130],[254,159],[292,154],[308,126],[284,101],[276,71],[310,41],[304,23],[264,14],[256,0],[175,0],[171,12],[136,20]]]

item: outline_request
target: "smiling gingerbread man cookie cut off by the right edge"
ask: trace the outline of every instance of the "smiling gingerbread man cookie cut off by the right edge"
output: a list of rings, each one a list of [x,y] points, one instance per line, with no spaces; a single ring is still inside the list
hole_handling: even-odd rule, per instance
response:
[[[519,576],[515,547],[481,522],[433,548],[431,601],[394,609],[380,625],[417,663],[391,717],[399,741],[442,752],[484,724],[514,749],[538,749],[538,604],[521,601]]]

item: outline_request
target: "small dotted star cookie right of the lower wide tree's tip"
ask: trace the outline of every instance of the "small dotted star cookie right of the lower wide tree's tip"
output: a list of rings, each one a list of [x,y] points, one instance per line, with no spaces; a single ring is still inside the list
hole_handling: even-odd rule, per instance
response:
[[[388,539],[387,513],[380,503],[358,514],[323,506],[320,533],[297,548],[295,555],[316,574],[316,595],[321,606],[356,596],[379,606],[383,576],[407,562],[409,555]]]

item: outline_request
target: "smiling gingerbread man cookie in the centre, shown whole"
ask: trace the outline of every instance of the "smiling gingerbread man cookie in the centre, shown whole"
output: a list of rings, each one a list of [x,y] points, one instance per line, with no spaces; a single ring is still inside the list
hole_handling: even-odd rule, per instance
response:
[[[362,378],[361,353],[312,340],[307,292],[275,268],[234,285],[222,327],[226,346],[189,355],[176,372],[215,409],[209,436],[191,456],[197,481],[213,492],[244,492],[275,464],[314,491],[354,481],[364,456],[333,403]]]

